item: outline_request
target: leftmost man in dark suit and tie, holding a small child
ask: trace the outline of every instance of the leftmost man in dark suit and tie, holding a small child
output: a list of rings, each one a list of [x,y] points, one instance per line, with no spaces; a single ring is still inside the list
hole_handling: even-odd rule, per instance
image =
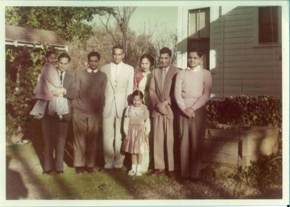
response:
[[[70,56],[66,53],[61,53],[57,60],[57,72],[59,72],[61,85],[65,88],[64,93],[61,95],[68,100],[70,112],[62,115],[62,119],[59,119],[58,115],[48,115],[48,105],[46,107],[46,114],[42,119],[44,142],[43,173],[46,174],[49,174],[52,170],[55,170],[57,174],[64,172],[64,146],[68,135],[68,124],[72,116],[70,101],[77,95],[75,77],[66,72]],[[53,159],[53,150],[55,150],[55,160]]]

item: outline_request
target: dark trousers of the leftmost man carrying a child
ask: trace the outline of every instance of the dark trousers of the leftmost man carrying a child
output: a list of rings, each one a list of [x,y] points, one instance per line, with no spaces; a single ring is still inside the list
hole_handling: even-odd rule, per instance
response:
[[[43,170],[64,170],[64,147],[68,135],[68,121],[46,115],[41,121],[44,144]],[[55,159],[53,159],[55,150]]]

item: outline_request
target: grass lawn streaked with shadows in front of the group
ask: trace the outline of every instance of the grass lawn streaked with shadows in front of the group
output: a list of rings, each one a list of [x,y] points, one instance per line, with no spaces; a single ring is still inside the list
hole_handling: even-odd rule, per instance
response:
[[[7,199],[241,199],[282,197],[282,185],[269,190],[253,187],[228,175],[233,168],[204,165],[202,181],[180,182],[165,175],[130,177],[122,172],[77,175],[64,164],[64,174],[43,175],[32,143],[6,147]]]

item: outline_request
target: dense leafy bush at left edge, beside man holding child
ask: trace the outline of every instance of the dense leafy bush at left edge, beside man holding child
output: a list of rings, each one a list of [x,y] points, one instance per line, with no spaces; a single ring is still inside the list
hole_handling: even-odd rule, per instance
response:
[[[35,101],[33,89],[48,49],[52,48],[6,47],[6,139],[16,134],[19,126],[26,130]]]

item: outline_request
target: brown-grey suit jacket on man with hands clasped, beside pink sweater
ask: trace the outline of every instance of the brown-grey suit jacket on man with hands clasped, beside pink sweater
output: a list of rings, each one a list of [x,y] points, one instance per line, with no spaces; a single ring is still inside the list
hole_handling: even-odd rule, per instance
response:
[[[178,68],[171,65],[168,68],[168,72],[166,73],[164,87],[162,88],[162,68],[155,68],[153,70],[149,88],[151,103],[153,106],[153,118],[161,115],[160,112],[157,112],[157,110],[155,110],[155,104],[166,100],[169,103],[169,105],[166,106],[166,117],[168,119],[173,119],[174,116],[171,106],[176,104],[174,100],[174,83],[176,74],[179,71],[180,70]]]

